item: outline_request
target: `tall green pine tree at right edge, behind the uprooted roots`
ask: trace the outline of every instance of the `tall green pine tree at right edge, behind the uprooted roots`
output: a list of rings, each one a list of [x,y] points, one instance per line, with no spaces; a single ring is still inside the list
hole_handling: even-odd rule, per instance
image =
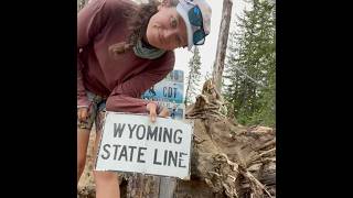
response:
[[[276,44],[275,3],[254,0],[232,32],[224,97],[228,111],[243,124],[275,124]]]

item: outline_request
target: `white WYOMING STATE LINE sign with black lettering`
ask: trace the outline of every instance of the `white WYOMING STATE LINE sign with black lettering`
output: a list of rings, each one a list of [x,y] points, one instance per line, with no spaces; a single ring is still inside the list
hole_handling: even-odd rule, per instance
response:
[[[96,170],[190,178],[193,124],[180,120],[107,112]]]

